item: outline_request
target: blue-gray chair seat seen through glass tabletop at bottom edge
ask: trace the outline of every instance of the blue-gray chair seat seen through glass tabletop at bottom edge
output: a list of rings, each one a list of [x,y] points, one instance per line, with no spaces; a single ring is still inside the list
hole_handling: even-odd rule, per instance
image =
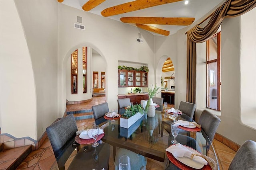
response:
[[[130,150],[123,149],[123,148],[119,148],[116,152],[116,157],[114,162],[115,170],[118,170],[119,158],[124,154],[130,157],[130,164],[131,164],[132,170],[146,170],[147,159],[145,158],[145,156],[136,154],[135,152],[132,152]]]

